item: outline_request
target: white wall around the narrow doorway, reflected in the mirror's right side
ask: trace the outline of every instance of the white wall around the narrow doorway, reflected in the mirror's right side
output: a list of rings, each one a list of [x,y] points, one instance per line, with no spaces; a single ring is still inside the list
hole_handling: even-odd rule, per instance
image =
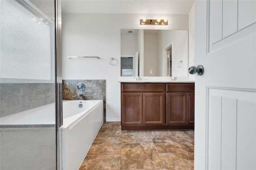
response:
[[[188,76],[188,31],[161,30],[157,34],[158,76],[164,76],[164,49],[172,45],[172,76]],[[183,65],[179,68],[178,63]]]

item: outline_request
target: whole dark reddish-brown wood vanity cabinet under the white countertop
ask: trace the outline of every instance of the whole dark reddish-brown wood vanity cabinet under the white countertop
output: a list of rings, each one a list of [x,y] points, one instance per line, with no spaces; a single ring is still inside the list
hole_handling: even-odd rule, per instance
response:
[[[122,130],[193,129],[194,83],[121,83]]]

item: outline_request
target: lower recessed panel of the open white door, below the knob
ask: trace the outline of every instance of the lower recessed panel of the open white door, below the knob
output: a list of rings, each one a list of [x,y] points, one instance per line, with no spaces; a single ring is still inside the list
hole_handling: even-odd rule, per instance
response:
[[[208,169],[256,169],[248,161],[256,160],[256,93],[208,88],[208,96]]]

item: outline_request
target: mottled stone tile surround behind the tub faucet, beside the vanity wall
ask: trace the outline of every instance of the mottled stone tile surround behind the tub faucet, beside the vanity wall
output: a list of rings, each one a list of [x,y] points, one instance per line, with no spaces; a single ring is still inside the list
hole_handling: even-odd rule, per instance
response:
[[[83,83],[85,89],[80,91],[77,85]],[[79,100],[103,100],[104,122],[106,122],[106,80],[62,80],[62,99],[78,100],[78,94],[83,94]]]

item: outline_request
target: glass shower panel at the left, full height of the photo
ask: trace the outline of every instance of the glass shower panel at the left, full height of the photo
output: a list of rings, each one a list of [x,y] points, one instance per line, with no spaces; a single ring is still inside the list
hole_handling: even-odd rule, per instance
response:
[[[0,168],[56,169],[55,1],[0,0]]]

